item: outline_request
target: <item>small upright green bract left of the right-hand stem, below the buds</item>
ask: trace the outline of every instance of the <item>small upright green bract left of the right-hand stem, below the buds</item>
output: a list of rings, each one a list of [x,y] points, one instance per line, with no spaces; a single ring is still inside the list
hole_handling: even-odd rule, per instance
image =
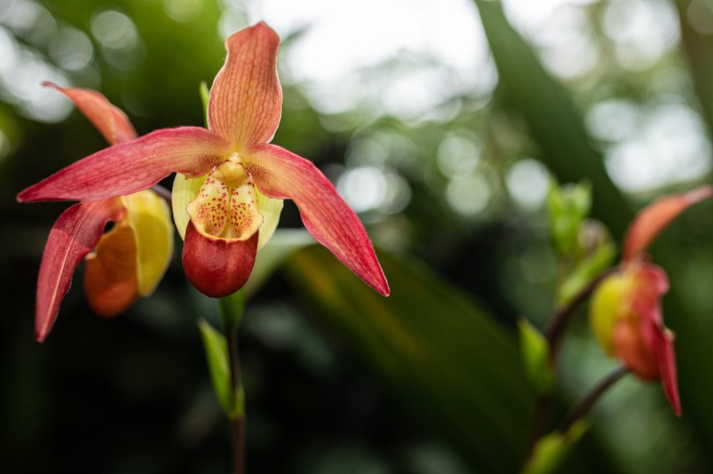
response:
[[[528,320],[520,319],[518,327],[525,374],[538,394],[551,394],[555,387],[556,374],[550,365],[550,344]]]

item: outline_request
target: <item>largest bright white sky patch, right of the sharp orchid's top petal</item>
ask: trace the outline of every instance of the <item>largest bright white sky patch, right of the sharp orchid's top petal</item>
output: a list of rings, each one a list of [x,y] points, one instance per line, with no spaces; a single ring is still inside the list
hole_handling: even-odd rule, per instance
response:
[[[460,107],[451,99],[489,95],[496,83],[469,1],[265,0],[247,7],[249,19],[265,19],[283,38],[299,32],[283,53],[282,78],[304,85],[323,113],[451,120]],[[226,29],[235,31],[221,25],[223,36]]]

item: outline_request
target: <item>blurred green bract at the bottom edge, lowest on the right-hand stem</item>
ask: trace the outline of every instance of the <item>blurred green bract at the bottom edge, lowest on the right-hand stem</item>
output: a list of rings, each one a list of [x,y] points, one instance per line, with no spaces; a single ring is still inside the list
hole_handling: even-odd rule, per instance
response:
[[[553,474],[558,472],[572,451],[573,446],[580,441],[588,428],[588,423],[580,420],[567,433],[555,431],[540,438],[535,444],[532,458],[523,468],[523,474]]]

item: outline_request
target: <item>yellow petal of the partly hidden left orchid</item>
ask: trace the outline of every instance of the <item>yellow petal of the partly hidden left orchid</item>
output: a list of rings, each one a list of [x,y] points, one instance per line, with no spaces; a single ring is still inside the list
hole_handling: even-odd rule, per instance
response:
[[[173,258],[173,225],[168,204],[145,189],[120,198],[126,208],[126,222],[136,241],[138,294],[148,296],[163,277]]]

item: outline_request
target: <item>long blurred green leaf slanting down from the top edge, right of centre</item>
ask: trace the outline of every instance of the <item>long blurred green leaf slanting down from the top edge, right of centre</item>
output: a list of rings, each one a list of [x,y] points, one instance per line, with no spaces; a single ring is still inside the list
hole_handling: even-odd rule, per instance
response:
[[[602,154],[590,145],[582,115],[570,94],[508,23],[501,2],[475,3],[498,68],[498,88],[508,105],[524,117],[542,147],[538,158],[562,182],[591,181],[593,216],[620,239],[632,216],[629,204],[607,175]]]

